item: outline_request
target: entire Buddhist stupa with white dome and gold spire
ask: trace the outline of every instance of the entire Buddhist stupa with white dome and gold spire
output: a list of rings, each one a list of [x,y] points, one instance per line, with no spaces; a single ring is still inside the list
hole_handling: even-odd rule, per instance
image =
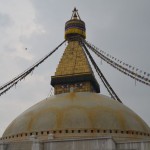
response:
[[[149,126],[127,106],[100,93],[78,36],[86,38],[86,27],[75,8],[65,24],[68,45],[51,77],[55,95],[12,121],[0,150],[150,148]]]

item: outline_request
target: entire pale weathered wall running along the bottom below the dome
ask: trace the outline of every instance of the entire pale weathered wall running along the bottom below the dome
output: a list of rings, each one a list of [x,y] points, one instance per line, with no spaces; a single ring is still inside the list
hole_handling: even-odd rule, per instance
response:
[[[111,137],[0,143],[0,150],[150,150],[149,141],[115,143]]]

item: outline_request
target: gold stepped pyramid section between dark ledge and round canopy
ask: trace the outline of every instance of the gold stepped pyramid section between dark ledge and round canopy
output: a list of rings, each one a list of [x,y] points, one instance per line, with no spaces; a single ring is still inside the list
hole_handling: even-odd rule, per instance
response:
[[[92,69],[78,41],[69,42],[56,69],[55,76],[91,73]]]

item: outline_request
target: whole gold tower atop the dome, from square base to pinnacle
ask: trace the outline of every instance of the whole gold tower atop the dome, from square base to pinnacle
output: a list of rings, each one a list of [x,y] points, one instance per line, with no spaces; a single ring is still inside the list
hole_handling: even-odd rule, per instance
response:
[[[74,9],[72,18],[67,21],[65,27],[65,37],[68,40],[68,46],[59,62],[55,76],[51,80],[55,94],[67,93],[70,90],[75,92],[100,91],[86,54],[77,38],[74,38],[77,36],[85,38],[85,23],[80,20],[80,17],[74,18],[74,15],[79,16],[75,11],[77,10]],[[81,26],[81,24],[84,26]]]

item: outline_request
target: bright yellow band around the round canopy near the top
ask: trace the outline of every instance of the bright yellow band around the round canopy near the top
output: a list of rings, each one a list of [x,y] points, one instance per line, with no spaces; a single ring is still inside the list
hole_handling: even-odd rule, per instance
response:
[[[67,35],[68,35],[68,34],[80,34],[81,36],[83,36],[84,38],[86,38],[86,33],[85,33],[85,31],[80,30],[80,29],[76,29],[76,28],[67,29],[67,30],[65,31],[65,39],[67,39]]]

